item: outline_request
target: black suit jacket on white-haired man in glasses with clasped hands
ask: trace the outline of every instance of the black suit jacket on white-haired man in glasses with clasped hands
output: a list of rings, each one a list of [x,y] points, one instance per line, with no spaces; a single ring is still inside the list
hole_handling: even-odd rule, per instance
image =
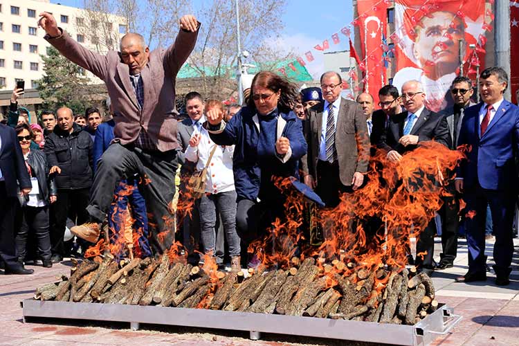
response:
[[[384,149],[386,152],[397,150],[399,154],[403,154],[410,152],[415,149],[420,142],[427,140],[436,140],[438,143],[450,147],[451,141],[445,117],[426,108],[421,112],[410,133],[418,136],[418,144],[408,145],[407,147],[401,145],[399,140],[403,136],[403,126],[407,117],[408,111],[390,116],[388,130],[385,132],[381,145],[379,145],[381,149]]]

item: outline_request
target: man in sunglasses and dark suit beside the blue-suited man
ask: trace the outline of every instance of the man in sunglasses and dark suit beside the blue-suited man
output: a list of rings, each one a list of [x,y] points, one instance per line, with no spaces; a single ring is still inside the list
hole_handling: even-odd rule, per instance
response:
[[[456,77],[450,86],[450,93],[453,96],[454,106],[445,109],[444,114],[448,125],[450,136],[450,149],[456,150],[459,138],[459,130],[462,127],[464,112],[468,107],[473,106],[471,97],[474,93],[472,81],[464,76]],[[457,254],[457,230],[459,228],[459,194],[457,194],[454,181],[447,187],[451,196],[443,198],[444,204],[438,211],[441,217],[441,248],[443,252],[439,254],[440,260],[436,266],[437,270],[451,268]]]

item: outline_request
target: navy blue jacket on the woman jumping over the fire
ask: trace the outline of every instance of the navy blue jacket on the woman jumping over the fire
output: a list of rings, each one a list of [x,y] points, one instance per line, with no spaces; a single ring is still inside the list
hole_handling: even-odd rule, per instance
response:
[[[307,142],[304,140],[301,120],[293,112],[280,113],[286,120],[282,136],[289,138],[292,155],[286,163],[282,163],[275,156],[275,143],[272,143],[272,155],[258,157],[257,143],[260,132],[253,121],[255,113],[248,107],[243,107],[226,124],[224,131],[219,134],[210,133],[210,137],[218,145],[235,145],[233,172],[238,199],[256,201],[257,197],[260,197],[265,201],[270,196],[268,192],[260,191],[261,174],[297,177],[298,162],[307,153]]]

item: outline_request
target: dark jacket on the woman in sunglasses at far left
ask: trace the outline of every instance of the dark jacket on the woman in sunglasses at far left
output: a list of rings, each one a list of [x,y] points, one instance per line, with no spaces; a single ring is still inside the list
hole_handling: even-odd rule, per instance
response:
[[[31,170],[31,175],[38,181],[39,199],[43,199],[47,205],[50,203],[49,197],[57,196],[57,187],[54,174],[51,176],[48,171],[51,169],[47,163],[47,157],[41,150],[31,150],[27,156],[27,163]],[[28,196],[25,197],[28,201]]]

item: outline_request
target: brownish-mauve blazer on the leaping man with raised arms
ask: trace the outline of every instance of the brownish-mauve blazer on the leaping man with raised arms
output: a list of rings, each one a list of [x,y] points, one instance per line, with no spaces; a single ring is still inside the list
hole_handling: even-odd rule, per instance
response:
[[[107,85],[116,122],[115,136],[123,145],[134,142],[143,127],[161,152],[176,149],[175,82],[185,60],[188,59],[197,33],[180,30],[174,44],[166,50],[149,53],[149,62],[140,72],[144,85],[144,105],[139,109],[127,64],[118,52],[100,55],[75,42],[67,33],[47,41],[67,59],[91,71]]]

